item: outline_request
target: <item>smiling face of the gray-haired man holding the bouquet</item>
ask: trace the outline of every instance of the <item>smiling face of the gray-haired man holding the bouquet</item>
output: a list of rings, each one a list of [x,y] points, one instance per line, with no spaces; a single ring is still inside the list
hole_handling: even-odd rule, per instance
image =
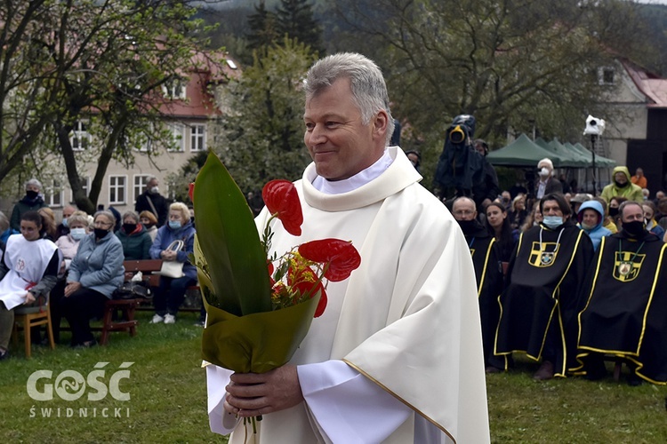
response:
[[[329,180],[350,178],[377,161],[384,151],[387,115],[368,125],[352,99],[350,80],[340,78],[306,100],[303,141],[317,174]]]

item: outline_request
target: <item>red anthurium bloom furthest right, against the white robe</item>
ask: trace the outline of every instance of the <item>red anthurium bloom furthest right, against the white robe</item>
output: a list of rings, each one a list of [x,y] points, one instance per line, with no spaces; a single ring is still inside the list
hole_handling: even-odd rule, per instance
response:
[[[329,281],[344,281],[361,265],[361,257],[352,242],[340,239],[320,239],[302,243],[299,253],[304,258],[328,264],[325,278]]]

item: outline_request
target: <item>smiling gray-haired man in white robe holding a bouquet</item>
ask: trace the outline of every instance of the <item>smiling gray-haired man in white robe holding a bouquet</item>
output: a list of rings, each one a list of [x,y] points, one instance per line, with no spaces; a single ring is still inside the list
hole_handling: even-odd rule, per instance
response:
[[[269,251],[349,239],[361,255],[327,288],[293,360],[265,374],[209,365],[213,432],[230,442],[488,442],[475,274],[452,215],[392,133],[382,72],[354,53],[319,60],[306,79],[295,237],[272,222]],[[260,229],[270,217],[262,210]],[[257,434],[242,418],[263,416]]]

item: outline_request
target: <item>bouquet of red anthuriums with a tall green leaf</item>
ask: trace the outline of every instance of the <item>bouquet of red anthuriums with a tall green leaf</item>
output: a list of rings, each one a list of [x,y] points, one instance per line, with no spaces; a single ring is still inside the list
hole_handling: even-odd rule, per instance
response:
[[[245,196],[213,153],[190,186],[197,237],[194,263],[202,289],[205,361],[239,373],[287,363],[326,306],[326,281],[342,281],[361,263],[351,242],[323,239],[268,257],[269,223],[301,234],[301,202],[287,180],[262,191],[271,218],[262,239]]]

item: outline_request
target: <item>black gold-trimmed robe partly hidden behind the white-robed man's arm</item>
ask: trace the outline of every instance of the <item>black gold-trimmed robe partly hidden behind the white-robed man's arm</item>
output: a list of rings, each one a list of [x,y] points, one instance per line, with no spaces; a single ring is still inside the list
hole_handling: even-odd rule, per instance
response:
[[[486,228],[476,224],[470,233],[465,233],[465,240],[470,247],[472,264],[477,278],[479,317],[482,321],[482,345],[486,366],[499,365],[494,358],[495,329],[498,327],[500,309],[498,297],[502,292],[502,265],[500,250],[494,236]]]

